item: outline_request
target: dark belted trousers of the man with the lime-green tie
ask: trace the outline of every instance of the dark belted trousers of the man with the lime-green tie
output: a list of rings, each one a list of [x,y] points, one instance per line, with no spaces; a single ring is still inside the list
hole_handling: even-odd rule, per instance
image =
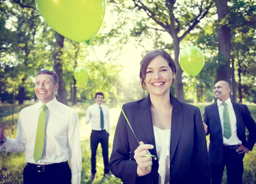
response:
[[[67,162],[37,167],[27,164],[23,170],[24,184],[71,184],[71,170]],[[41,172],[38,172],[41,171]]]

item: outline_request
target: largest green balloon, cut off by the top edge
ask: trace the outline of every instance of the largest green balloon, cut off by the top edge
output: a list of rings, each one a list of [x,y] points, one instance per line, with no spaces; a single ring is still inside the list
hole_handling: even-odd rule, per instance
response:
[[[105,0],[36,0],[44,20],[77,42],[96,37],[105,15]]]

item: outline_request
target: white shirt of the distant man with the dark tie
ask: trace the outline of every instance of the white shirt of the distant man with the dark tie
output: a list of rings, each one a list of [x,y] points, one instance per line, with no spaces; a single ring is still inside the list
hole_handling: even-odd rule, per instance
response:
[[[108,107],[101,104],[100,107],[102,108],[103,116],[104,116],[104,128],[108,129],[108,134],[111,132],[110,128],[110,122],[109,122],[109,110]],[[89,113],[92,114],[91,118]],[[86,116],[85,116],[85,124],[88,124],[90,122],[93,130],[102,130],[100,127],[100,108],[98,103],[95,103],[91,106],[89,106],[86,110]]]

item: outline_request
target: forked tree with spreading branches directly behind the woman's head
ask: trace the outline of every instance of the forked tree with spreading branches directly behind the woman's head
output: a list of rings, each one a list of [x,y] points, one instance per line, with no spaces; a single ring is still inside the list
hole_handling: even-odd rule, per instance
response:
[[[184,101],[182,69],[178,62],[180,42],[195,28],[200,20],[207,16],[213,2],[195,2],[194,0],[132,1],[134,2],[134,6],[141,12],[144,12],[149,18],[144,18],[144,20],[139,20],[140,22],[137,22],[137,34],[148,29],[153,29],[157,32],[167,32],[172,37],[175,62],[178,65],[176,96],[180,101]],[[132,6],[129,8],[133,9]]]

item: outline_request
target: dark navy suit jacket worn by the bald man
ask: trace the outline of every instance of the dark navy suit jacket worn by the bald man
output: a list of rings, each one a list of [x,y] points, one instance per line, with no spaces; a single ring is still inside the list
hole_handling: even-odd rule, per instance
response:
[[[255,121],[246,105],[235,102],[232,102],[232,105],[236,114],[237,136],[242,141],[242,145],[252,150],[256,141]],[[223,136],[217,103],[205,107],[203,118],[204,123],[208,126],[207,135],[210,134],[208,143],[209,162],[221,164],[223,159]],[[250,132],[249,141],[246,141],[245,127]]]

